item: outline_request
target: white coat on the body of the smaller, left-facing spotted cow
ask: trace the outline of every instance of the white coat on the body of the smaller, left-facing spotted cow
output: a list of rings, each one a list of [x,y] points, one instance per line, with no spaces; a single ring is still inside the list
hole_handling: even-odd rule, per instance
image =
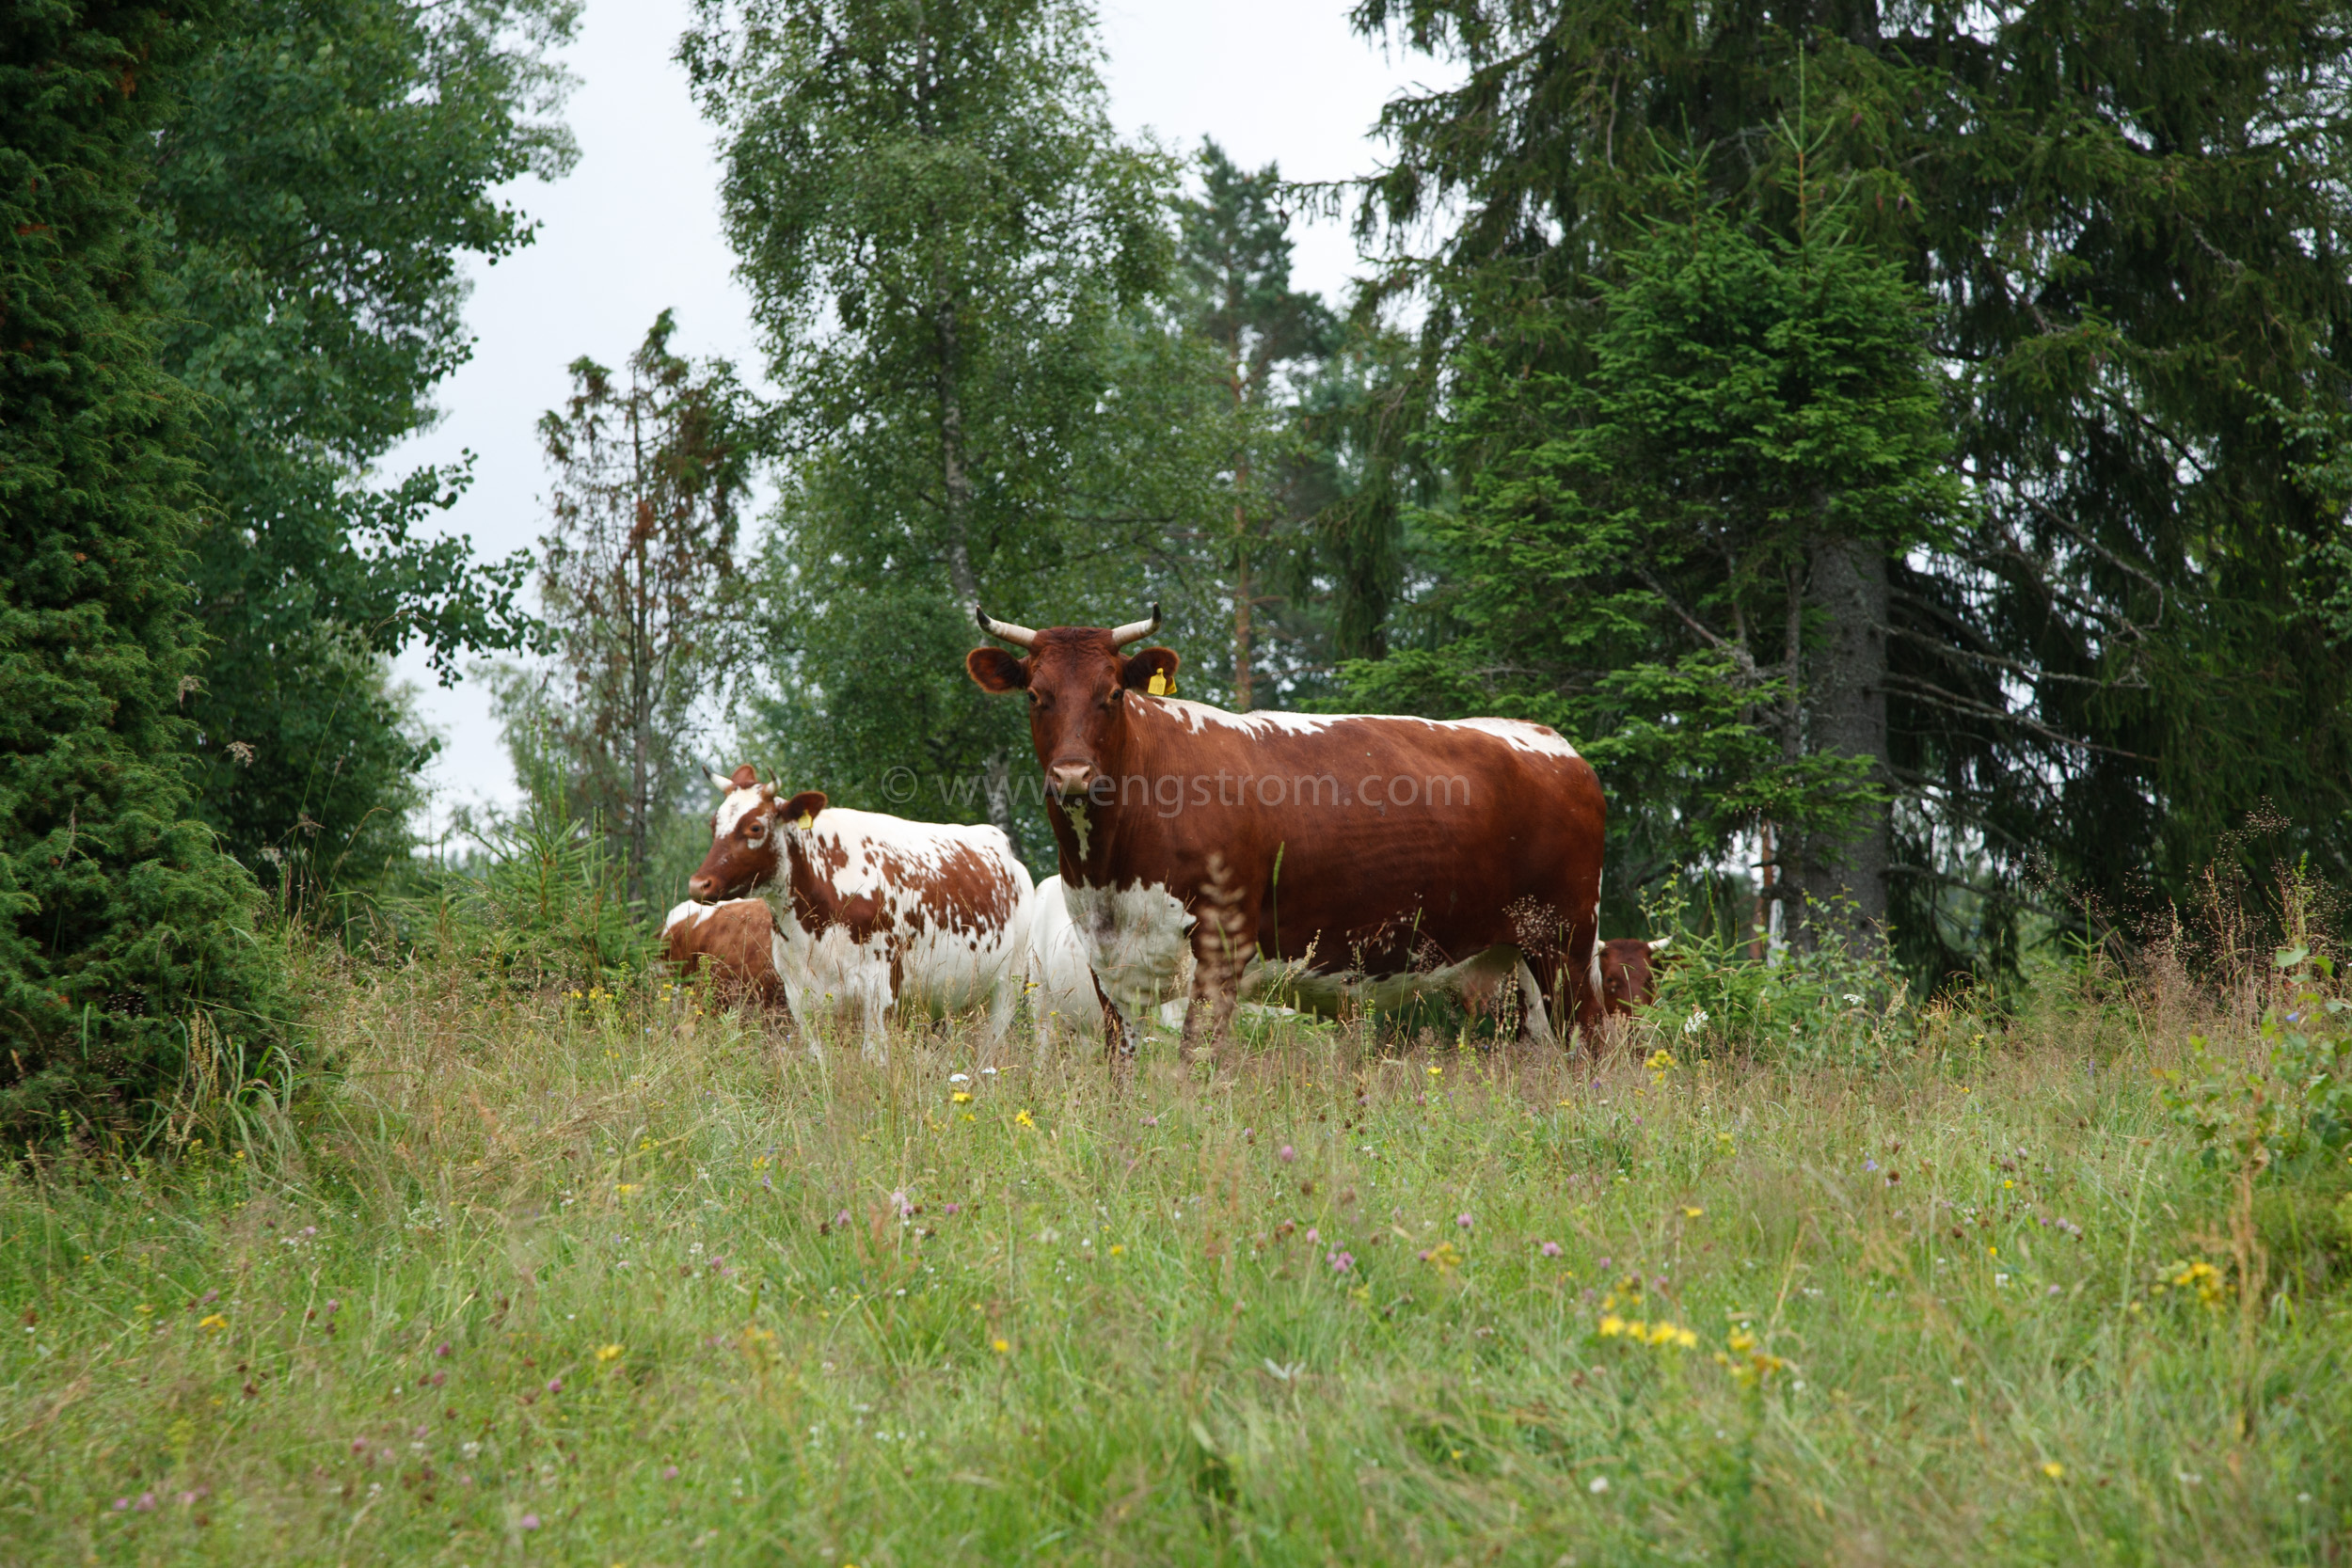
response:
[[[894,1006],[946,1016],[988,1009],[988,1034],[1002,1039],[1021,1001],[1023,954],[1033,889],[1028,867],[997,827],[910,823],[880,811],[828,806],[809,827],[788,827],[823,872],[833,870],[833,896],[842,903],[873,898],[875,929],[858,940],[847,926],[809,933],[793,912],[793,893],[779,879],[760,893],[776,910],[776,973],[783,978],[793,1020],[809,1030],[823,1018],[854,1023],[861,1044],[880,1051],[882,1025]],[[995,875],[1007,917],[1002,922],[941,922],[924,907],[924,893],[948,870],[955,851],[971,851]],[[891,959],[898,985],[891,987]]]

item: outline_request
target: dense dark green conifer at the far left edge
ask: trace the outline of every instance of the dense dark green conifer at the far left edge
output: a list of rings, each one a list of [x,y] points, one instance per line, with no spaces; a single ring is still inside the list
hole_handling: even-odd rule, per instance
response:
[[[155,369],[146,153],[186,12],[0,19],[0,1135],[122,1121],[205,1013],[270,1039],[254,886],[183,773],[198,527],[188,393]]]

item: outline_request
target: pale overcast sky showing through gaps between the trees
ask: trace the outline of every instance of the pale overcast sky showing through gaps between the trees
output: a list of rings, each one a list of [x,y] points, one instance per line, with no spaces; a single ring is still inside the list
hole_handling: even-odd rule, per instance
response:
[[[1214,136],[1244,167],[1289,179],[1348,179],[1378,167],[1369,132],[1399,89],[1437,80],[1425,59],[1348,31],[1345,0],[1110,0],[1101,9],[1110,113],[1192,150]],[[659,310],[677,310],[675,348],[727,355],[757,381],[750,308],[720,235],[710,129],[670,61],[687,0],[588,0],[567,61],[579,89],[567,120],[581,160],[553,183],[515,190],[539,242],[473,270],[473,360],[442,383],[442,421],[386,461],[386,473],[475,454],[475,484],[449,515],[485,555],[532,545],[546,468],[532,437],[569,386],[579,355],[619,364]],[[1341,223],[1301,223],[1296,282],[1338,299],[1357,270]],[[513,771],[482,691],[435,684],[421,654],[400,675],[447,745],[433,766],[435,816],[459,799],[513,799]]]

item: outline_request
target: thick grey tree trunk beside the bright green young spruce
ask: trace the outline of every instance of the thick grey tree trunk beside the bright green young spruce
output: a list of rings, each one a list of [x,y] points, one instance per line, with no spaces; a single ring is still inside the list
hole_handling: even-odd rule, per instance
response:
[[[1886,550],[1853,538],[1816,538],[1806,599],[1828,621],[1806,682],[1806,741],[1816,755],[1870,757],[1886,778]],[[1823,936],[1858,950],[1886,940],[1886,806],[1867,806],[1844,832],[1809,835],[1804,896]]]

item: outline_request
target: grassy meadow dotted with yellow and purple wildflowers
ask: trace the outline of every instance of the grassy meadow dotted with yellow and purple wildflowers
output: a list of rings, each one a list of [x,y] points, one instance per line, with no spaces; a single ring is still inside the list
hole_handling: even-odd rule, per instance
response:
[[[294,1119],[0,1185],[0,1559],[2345,1549],[2336,1211],[2232,1232],[2152,1095],[2173,992],[1846,1067],[1277,1027],[1115,1086],[656,994],[318,987],[341,1077]],[[2152,1291],[2176,1260],[2225,1288]]]

